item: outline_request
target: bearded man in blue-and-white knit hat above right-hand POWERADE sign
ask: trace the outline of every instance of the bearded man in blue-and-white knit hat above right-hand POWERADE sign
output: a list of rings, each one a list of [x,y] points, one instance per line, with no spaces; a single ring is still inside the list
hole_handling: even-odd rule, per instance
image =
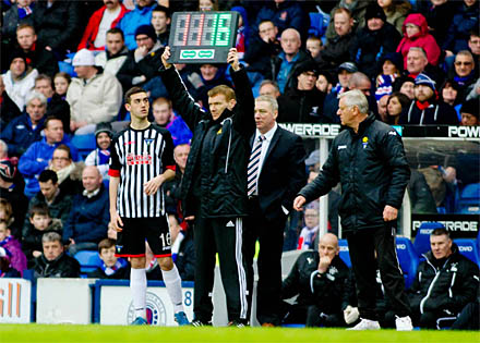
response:
[[[400,114],[399,124],[458,125],[458,117],[452,106],[439,101],[435,82],[421,73],[415,79],[415,99],[408,111]]]

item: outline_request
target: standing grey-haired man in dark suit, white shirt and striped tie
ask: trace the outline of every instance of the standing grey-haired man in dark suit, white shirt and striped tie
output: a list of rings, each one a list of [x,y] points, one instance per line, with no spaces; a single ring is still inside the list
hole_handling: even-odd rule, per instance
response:
[[[256,318],[262,326],[278,326],[281,291],[284,229],[291,200],[305,184],[302,139],[276,123],[278,103],[271,96],[255,99],[256,132],[251,138],[248,167],[250,217],[243,231],[248,301],[253,292],[253,256],[260,241]],[[249,317],[248,317],[249,318]]]

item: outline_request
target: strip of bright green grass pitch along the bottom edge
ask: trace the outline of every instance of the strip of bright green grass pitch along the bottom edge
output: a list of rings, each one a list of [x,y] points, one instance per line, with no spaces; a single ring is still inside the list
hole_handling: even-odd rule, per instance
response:
[[[480,342],[479,331],[0,324],[0,342]]]

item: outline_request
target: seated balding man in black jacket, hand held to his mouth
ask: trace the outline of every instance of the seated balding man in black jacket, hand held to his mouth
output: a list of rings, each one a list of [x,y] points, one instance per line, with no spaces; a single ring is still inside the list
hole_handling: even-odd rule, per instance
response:
[[[296,305],[286,305],[285,321],[307,322],[307,327],[345,327],[341,304],[348,267],[338,256],[338,238],[326,233],[319,252],[300,255],[281,285],[281,298],[298,294]]]

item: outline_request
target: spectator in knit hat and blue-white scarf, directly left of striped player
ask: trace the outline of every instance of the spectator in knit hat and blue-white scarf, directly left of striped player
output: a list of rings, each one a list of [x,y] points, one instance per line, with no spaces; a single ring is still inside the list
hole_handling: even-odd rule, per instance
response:
[[[99,123],[95,128],[97,148],[85,159],[85,166],[95,166],[104,180],[109,180],[108,161],[110,160],[110,144],[113,138],[113,130],[110,123]]]

